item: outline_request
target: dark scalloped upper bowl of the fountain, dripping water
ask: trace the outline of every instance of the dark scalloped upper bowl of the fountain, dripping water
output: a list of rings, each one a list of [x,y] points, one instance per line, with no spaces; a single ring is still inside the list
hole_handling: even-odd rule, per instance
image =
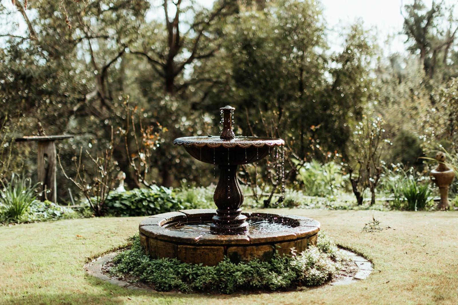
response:
[[[240,136],[223,140],[219,136],[201,136],[178,138],[173,143],[184,146],[185,150],[199,161],[234,166],[261,160],[271,148],[283,146],[284,140]]]

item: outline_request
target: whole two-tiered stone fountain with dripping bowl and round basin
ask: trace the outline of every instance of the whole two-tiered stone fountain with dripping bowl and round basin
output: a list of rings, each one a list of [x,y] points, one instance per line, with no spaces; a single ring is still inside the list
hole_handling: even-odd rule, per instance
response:
[[[213,200],[218,209],[188,209],[153,215],[140,223],[140,241],[153,258],[216,265],[228,256],[233,262],[268,260],[275,250],[290,255],[316,243],[320,223],[314,219],[267,213],[242,213],[243,193],[237,166],[266,157],[282,139],[236,137],[233,107],[221,108],[223,132],[218,136],[174,140],[199,161],[218,165],[219,181]]]

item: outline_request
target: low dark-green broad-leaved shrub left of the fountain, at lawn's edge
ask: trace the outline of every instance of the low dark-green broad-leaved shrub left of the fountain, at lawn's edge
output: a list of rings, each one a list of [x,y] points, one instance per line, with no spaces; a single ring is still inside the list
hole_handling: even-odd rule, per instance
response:
[[[127,192],[111,192],[105,201],[110,214],[144,216],[186,209],[170,188],[151,185]]]

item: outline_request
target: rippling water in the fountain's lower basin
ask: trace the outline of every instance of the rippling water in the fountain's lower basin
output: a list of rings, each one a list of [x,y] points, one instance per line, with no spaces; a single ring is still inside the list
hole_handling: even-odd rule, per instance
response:
[[[283,231],[287,228],[291,228],[290,225],[260,218],[248,218],[247,222],[249,224],[248,234],[278,232]],[[211,234],[210,224],[211,222],[185,223],[179,225],[172,225],[170,227],[167,227],[167,230],[196,234]]]

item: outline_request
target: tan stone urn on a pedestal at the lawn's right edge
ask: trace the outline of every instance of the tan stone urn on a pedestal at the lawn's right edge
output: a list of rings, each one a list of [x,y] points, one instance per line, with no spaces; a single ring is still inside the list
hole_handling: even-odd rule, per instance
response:
[[[439,193],[441,193],[441,201],[437,205],[437,209],[441,210],[448,209],[448,187],[455,177],[455,172],[453,169],[445,165],[445,159],[446,156],[444,153],[437,153],[436,160],[439,161],[439,166],[433,169],[430,173],[431,180],[436,183],[436,185],[439,187]]]

